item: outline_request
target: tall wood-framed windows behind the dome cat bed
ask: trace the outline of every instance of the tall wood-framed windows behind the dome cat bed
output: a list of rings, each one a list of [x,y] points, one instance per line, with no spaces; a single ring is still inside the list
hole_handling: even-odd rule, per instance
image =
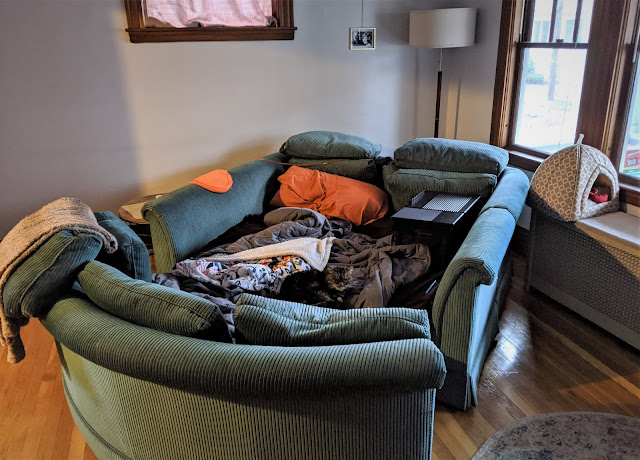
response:
[[[491,142],[512,163],[535,170],[584,134],[639,184],[638,3],[503,0]]]

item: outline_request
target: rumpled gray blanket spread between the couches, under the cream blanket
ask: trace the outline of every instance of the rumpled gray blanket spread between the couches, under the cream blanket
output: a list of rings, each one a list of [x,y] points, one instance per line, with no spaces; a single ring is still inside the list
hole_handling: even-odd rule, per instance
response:
[[[350,308],[385,307],[398,286],[424,275],[430,264],[429,249],[420,244],[395,245],[393,237],[373,239],[355,233],[351,224],[301,208],[279,208],[264,217],[268,228],[199,254],[232,254],[294,238],[336,238],[329,266],[353,266],[353,284],[345,304]],[[244,291],[223,289],[173,274],[154,275],[158,284],[191,292],[220,307],[230,326],[235,301]],[[272,296],[269,292],[260,295]],[[232,331],[233,332],[233,331]]]

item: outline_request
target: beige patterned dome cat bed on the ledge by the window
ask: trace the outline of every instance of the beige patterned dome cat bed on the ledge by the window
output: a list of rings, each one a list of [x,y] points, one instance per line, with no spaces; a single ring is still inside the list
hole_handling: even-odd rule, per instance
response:
[[[589,200],[598,178],[609,188],[609,201],[599,204]],[[527,204],[554,219],[575,222],[617,211],[619,193],[611,161],[598,149],[578,142],[542,162],[531,179]]]

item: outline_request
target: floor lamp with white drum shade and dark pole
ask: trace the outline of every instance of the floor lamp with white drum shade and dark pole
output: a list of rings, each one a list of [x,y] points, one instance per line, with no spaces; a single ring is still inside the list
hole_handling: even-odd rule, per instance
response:
[[[476,11],[476,8],[445,8],[410,12],[409,45],[416,48],[440,48],[436,122],[433,137],[438,137],[440,123],[442,49],[471,46],[475,43]]]

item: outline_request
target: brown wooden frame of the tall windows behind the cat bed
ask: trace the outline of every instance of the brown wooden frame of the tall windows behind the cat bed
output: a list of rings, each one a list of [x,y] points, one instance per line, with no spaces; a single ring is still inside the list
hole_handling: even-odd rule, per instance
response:
[[[513,143],[520,71],[520,32],[524,0],[503,0],[490,142],[510,151],[510,163],[535,171],[547,153]],[[607,155],[616,170],[624,143],[633,90],[634,39],[640,26],[640,0],[595,0],[580,102],[577,133]],[[607,24],[620,24],[619,30]],[[592,37],[596,37],[595,40]],[[555,46],[556,44],[548,44]],[[548,46],[546,46],[548,47]],[[558,45],[563,47],[563,45]],[[570,45],[573,48],[573,45]],[[640,206],[640,180],[618,174],[623,200]]]

